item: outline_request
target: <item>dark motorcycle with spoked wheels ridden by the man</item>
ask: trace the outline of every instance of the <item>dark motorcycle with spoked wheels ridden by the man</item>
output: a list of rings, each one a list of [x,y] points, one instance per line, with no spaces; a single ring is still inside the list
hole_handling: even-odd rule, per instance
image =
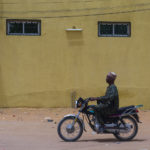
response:
[[[132,140],[138,132],[138,108],[143,105],[131,105],[118,109],[115,114],[103,117],[104,130],[98,132],[96,129],[96,118],[93,105],[88,105],[89,99],[79,98],[76,101],[76,108],[80,108],[77,115],[68,114],[59,122],[57,132],[59,137],[67,142],[78,140],[85,129],[84,118],[91,129],[97,134],[113,134],[120,141]],[[82,118],[80,117],[80,114]]]

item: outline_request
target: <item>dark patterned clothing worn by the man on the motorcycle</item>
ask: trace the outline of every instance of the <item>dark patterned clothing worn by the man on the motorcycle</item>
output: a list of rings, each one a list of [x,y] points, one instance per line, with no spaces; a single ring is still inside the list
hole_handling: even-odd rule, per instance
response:
[[[119,96],[117,87],[112,84],[107,87],[105,96],[101,96],[97,100],[95,106],[95,116],[101,124],[103,124],[102,116],[115,113],[119,108]]]

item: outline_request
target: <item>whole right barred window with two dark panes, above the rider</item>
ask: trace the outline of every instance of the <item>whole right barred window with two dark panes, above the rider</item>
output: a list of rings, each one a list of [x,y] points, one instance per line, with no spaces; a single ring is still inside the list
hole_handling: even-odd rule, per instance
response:
[[[100,37],[129,37],[131,23],[129,22],[98,22],[98,36]]]

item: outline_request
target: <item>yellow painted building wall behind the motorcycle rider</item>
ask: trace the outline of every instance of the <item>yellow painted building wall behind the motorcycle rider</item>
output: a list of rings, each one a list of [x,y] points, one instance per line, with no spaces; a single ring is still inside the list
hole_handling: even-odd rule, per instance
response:
[[[120,105],[150,109],[149,16],[149,0],[0,0],[0,107],[70,107],[114,71]],[[39,19],[41,36],[8,36],[6,19]],[[98,21],[131,22],[131,37],[98,37]]]

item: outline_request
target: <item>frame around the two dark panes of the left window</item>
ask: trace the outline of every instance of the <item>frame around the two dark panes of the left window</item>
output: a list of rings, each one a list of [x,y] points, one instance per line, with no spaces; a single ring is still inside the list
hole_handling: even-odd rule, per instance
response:
[[[22,23],[23,24],[23,33],[10,33],[10,23]],[[25,23],[32,22],[38,23],[38,33],[25,33]],[[40,36],[41,35],[41,20],[13,20],[7,19],[7,35],[29,35],[29,36]]]

